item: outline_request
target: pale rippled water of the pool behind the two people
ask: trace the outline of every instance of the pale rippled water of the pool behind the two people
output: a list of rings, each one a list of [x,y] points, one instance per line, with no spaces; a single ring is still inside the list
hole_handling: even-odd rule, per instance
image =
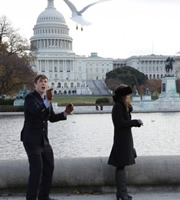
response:
[[[133,113],[144,126],[132,128],[138,155],[180,154],[180,112]],[[23,116],[0,116],[0,159],[26,158],[20,142]],[[55,158],[109,156],[113,142],[111,114],[73,114],[49,122]]]

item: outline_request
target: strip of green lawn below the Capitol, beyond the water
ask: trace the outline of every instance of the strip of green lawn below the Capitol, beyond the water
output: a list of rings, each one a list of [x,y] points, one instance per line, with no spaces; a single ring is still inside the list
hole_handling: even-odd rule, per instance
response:
[[[104,98],[108,96],[62,96],[62,97],[53,97],[53,102],[57,102],[58,105],[65,105],[68,103],[73,104],[95,104],[96,99]],[[111,100],[111,96],[109,96]]]

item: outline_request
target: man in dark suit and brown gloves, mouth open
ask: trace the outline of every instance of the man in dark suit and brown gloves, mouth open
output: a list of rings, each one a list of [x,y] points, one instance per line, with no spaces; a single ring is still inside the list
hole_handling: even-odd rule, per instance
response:
[[[48,78],[37,75],[34,79],[35,90],[29,93],[24,103],[24,126],[21,141],[29,160],[29,180],[26,200],[53,200],[49,197],[54,171],[54,155],[48,139],[48,120],[66,120],[73,111],[69,104],[62,113],[55,114],[51,104],[52,88],[47,90]]]

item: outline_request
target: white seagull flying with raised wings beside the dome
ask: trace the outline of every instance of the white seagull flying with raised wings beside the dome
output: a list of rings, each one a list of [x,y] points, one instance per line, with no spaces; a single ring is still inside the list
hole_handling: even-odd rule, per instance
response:
[[[88,26],[90,25],[91,23],[86,21],[83,16],[82,16],[82,13],[85,12],[89,7],[97,4],[97,3],[100,3],[100,2],[103,2],[103,1],[108,1],[108,0],[99,0],[99,1],[96,1],[94,3],[91,3],[87,6],[85,6],[82,10],[78,11],[77,8],[75,7],[75,5],[70,2],[69,0],[64,0],[66,2],[66,4],[69,6],[69,8],[71,9],[72,11],[72,17],[71,19],[73,21],[75,21],[77,23],[76,25],[76,30],[78,29],[78,24],[81,25],[81,31],[83,31],[83,26]]]

